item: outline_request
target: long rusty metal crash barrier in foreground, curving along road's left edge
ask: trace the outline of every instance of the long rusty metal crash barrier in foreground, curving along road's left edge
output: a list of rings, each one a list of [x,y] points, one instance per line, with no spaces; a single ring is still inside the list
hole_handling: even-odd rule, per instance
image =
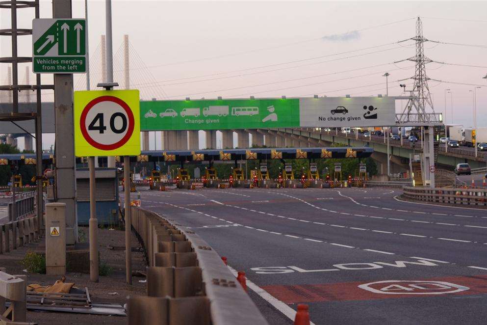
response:
[[[153,212],[131,209],[148,267],[147,297],[128,300],[129,325],[268,324],[204,240]]]

